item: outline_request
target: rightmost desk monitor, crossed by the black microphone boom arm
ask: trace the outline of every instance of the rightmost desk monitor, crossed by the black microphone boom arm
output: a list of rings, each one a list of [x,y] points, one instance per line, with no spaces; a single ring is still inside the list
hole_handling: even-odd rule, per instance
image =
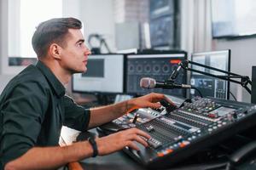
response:
[[[191,60],[223,71],[230,71],[230,54],[230,50],[194,53],[191,55]],[[226,75],[197,65],[191,65],[191,68],[213,75]],[[190,83],[195,88],[198,88],[203,97],[210,96],[218,99],[230,99],[230,82],[228,81],[191,71]],[[195,89],[191,89],[190,94],[191,97],[199,95]]]

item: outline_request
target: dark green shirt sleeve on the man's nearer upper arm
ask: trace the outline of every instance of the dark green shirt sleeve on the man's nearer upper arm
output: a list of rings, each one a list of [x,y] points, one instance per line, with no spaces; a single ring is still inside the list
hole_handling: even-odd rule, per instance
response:
[[[3,104],[1,152],[3,166],[22,156],[37,142],[44,111],[46,91],[37,82],[21,83]]]

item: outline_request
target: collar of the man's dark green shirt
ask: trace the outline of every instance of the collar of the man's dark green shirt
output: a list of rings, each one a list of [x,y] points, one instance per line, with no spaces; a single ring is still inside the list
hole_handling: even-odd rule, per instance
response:
[[[60,98],[64,96],[65,94],[65,88],[61,84],[61,82],[55,77],[52,71],[49,70],[49,68],[44,65],[41,61],[38,60],[38,63],[36,65],[38,69],[44,74],[44,77],[48,80],[50,86],[54,89],[57,96]]]

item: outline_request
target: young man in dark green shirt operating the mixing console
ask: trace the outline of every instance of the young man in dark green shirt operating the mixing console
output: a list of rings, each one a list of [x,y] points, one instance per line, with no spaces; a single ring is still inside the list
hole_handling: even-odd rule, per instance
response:
[[[84,45],[81,22],[73,18],[47,20],[32,37],[38,64],[26,67],[0,96],[0,168],[45,169],[90,156],[104,156],[129,146],[148,133],[131,128],[107,137],[60,147],[61,126],[80,131],[96,127],[141,107],[160,107],[163,94],[148,94],[115,105],[84,110],[65,95],[73,73],[86,71],[90,50]]]

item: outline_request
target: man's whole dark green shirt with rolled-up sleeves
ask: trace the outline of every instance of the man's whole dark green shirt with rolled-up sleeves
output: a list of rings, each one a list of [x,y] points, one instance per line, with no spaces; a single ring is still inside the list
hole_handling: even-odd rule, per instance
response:
[[[58,145],[62,125],[84,131],[89,121],[48,67],[29,65],[0,96],[0,169],[33,146]]]

